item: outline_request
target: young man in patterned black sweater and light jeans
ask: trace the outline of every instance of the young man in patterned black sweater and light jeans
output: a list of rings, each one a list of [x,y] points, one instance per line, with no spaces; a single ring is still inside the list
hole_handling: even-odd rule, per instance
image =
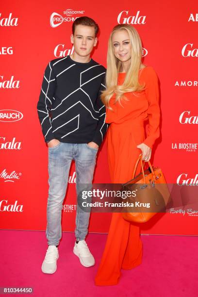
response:
[[[39,121],[49,150],[49,197],[47,203],[48,249],[44,273],[56,271],[62,236],[61,214],[71,161],[76,165],[76,190],[91,184],[98,148],[107,130],[105,106],[100,99],[106,69],[90,58],[97,45],[99,27],[86,16],[72,25],[74,54],[49,62],[37,103]],[[83,266],[95,264],[85,236],[90,212],[77,205],[76,242],[73,252]]]

